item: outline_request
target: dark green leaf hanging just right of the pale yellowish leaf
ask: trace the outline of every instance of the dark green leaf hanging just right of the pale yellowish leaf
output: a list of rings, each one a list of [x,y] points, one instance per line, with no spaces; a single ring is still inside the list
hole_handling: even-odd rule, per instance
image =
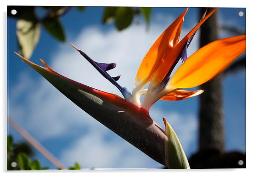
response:
[[[65,33],[59,19],[44,19],[43,26],[53,37],[59,41],[65,41]]]

